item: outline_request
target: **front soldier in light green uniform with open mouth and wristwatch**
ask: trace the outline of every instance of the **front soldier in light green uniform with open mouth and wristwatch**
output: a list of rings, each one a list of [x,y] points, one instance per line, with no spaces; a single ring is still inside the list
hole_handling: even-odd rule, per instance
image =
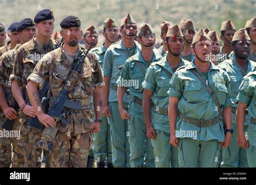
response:
[[[203,29],[194,35],[192,45],[195,59],[178,69],[170,81],[170,143],[178,146],[180,167],[217,167],[220,145],[229,146],[231,141],[230,79],[207,61],[212,47]]]

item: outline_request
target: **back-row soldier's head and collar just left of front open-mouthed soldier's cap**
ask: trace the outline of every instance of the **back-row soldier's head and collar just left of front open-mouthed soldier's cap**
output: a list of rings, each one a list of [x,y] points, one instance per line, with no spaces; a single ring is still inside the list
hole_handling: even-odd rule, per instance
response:
[[[191,43],[195,34],[194,23],[192,20],[183,18],[180,22],[180,29],[184,35],[184,50],[181,52],[181,58],[187,61],[192,61],[194,55],[191,52]]]

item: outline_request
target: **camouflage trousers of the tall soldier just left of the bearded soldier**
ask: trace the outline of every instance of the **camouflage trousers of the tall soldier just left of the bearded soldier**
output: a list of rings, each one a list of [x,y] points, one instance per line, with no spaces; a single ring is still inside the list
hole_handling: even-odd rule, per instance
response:
[[[21,134],[24,142],[24,167],[35,168],[41,167],[42,149],[39,147],[39,140],[41,139],[42,130],[29,127],[27,123],[30,119],[21,120]],[[50,167],[50,152],[46,151],[46,165]]]

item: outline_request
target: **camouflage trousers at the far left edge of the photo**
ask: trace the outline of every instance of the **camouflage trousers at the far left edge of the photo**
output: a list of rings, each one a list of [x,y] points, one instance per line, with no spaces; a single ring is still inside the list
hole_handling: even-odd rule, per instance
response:
[[[1,123],[4,120],[1,119]],[[15,119],[14,127],[12,131],[19,132],[19,118]],[[0,129],[3,131],[3,129]],[[24,167],[24,150],[23,142],[21,140],[21,133],[19,132],[18,137],[5,137],[0,138],[0,167],[13,167],[23,168]]]

